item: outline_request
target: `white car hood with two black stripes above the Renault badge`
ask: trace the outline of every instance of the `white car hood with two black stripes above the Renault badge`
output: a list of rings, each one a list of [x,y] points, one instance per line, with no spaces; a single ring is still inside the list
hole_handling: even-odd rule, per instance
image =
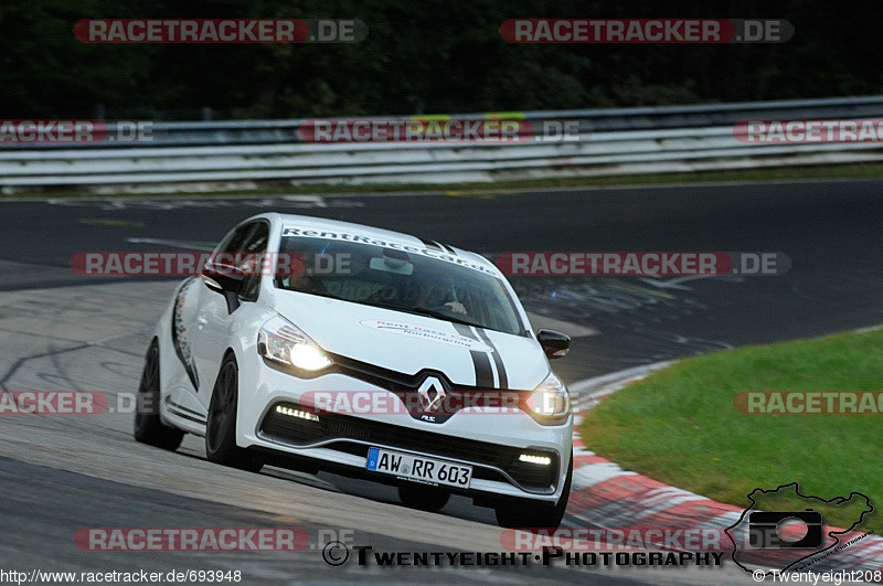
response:
[[[532,390],[549,374],[529,337],[294,291],[273,306],[323,350],[408,375],[430,369],[455,385]]]

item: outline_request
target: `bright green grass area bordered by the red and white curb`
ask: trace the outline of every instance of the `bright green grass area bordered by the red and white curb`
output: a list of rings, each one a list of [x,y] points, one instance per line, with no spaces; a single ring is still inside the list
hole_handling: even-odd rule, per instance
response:
[[[684,360],[605,398],[581,434],[629,470],[737,507],[789,482],[823,499],[862,492],[875,511],[861,529],[883,534],[883,414],[749,415],[734,408],[741,391],[883,391],[883,329]],[[854,508],[816,510],[838,526],[858,519]]]

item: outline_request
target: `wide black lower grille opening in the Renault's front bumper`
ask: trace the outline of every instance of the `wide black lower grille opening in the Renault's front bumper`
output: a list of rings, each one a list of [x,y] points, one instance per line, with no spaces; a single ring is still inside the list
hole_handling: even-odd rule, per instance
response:
[[[521,448],[498,446],[488,441],[460,439],[444,434],[411,429],[397,425],[352,417],[340,414],[320,414],[313,422],[276,412],[277,406],[299,408],[292,403],[274,405],[260,425],[260,431],[274,439],[296,446],[309,446],[317,441],[338,440],[326,445],[358,456],[368,456],[369,446],[351,440],[361,440],[391,448],[419,451],[438,458],[450,458],[491,466],[504,470],[522,488],[546,492],[555,486],[558,476],[558,457],[551,450],[530,450],[531,454],[549,456],[550,466],[519,461],[524,451]],[[350,441],[348,441],[350,440]],[[476,468],[474,476],[489,480],[507,481],[506,477],[493,470]]]

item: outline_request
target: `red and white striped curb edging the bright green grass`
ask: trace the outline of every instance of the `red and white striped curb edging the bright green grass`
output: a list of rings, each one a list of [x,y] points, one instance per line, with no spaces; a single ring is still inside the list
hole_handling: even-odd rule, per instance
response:
[[[568,525],[594,529],[726,529],[738,522],[745,509],[713,501],[706,497],[670,487],[652,478],[624,470],[588,449],[579,437],[584,414],[604,397],[625,388],[671,362],[638,366],[572,385],[574,399],[574,470],[567,503]],[[746,496],[746,505],[747,505]],[[744,531],[747,523],[740,530]],[[826,528],[838,531],[837,528]],[[842,531],[842,530],[840,530]],[[851,532],[840,543],[862,535]],[[744,535],[738,535],[740,540]],[[726,544],[723,544],[726,546]],[[752,563],[776,566],[781,555],[775,550],[758,550]],[[787,551],[786,551],[787,552]],[[728,556],[727,556],[728,557]],[[779,566],[780,567],[780,566]],[[812,564],[812,572],[881,571],[883,537],[870,535]]]

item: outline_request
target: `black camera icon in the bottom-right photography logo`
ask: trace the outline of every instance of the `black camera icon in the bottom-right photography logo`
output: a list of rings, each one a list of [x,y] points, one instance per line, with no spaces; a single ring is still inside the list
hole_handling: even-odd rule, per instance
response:
[[[821,546],[821,513],[756,511],[748,515],[748,545],[757,550],[815,550]]]

